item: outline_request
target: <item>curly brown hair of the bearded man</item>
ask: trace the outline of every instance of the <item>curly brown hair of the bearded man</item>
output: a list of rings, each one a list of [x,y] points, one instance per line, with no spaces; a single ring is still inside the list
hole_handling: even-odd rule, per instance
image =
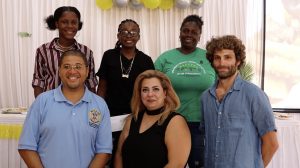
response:
[[[214,53],[222,49],[229,49],[234,51],[236,60],[241,62],[238,66],[238,69],[240,69],[245,64],[245,45],[236,36],[226,35],[222,37],[213,37],[206,43],[206,58],[211,65],[213,65]]]

